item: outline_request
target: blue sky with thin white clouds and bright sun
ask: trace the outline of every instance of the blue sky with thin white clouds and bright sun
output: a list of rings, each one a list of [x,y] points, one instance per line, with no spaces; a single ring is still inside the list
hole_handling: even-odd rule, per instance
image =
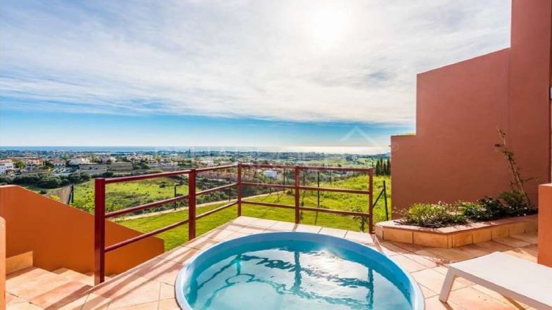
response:
[[[0,146],[388,150],[509,0],[0,2]]]

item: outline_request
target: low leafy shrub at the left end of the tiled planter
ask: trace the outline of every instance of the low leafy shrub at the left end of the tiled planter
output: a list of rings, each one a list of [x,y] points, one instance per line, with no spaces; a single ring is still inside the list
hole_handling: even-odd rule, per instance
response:
[[[446,203],[415,203],[404,217],[403,224],[438,228],[465,224],[467,218],[455,206]]]

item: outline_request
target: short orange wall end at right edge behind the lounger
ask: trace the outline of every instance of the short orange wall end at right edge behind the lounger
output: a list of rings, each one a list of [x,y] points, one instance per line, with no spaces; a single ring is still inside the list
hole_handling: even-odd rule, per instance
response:
[[[552,184],[539,186],[539,264],[552,267]]]

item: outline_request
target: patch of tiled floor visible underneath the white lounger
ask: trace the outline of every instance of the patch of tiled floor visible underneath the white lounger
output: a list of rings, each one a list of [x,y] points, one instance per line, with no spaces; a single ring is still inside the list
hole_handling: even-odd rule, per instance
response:
[[[453,290],[451,292],[449,300],[467,310],[518,310],[511,304],[504,304],[498,300],[495,300],[493,297],[481,293],[481,291],[471,287]]]

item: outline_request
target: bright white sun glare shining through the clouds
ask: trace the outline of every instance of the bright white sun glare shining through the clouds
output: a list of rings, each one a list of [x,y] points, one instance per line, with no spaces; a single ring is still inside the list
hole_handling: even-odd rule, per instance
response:
[[[343,8],[317,8],[307,17],[305,28],[316,48],[328,49],[349,31],[349,16]]]

